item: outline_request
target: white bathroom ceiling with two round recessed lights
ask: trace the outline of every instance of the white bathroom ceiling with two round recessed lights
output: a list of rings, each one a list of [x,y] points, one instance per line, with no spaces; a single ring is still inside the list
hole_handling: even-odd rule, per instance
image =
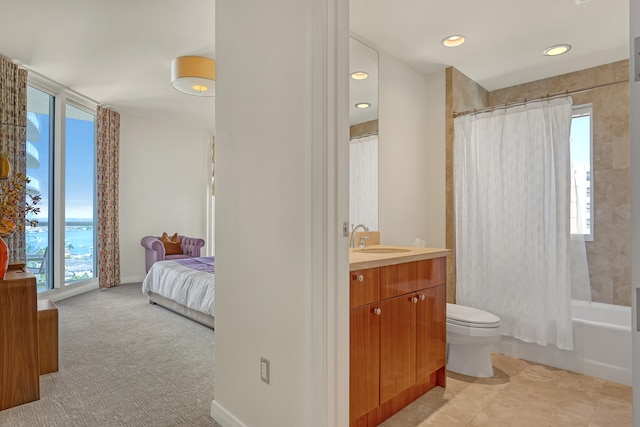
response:
[[[629,58],[629,0],[350,0],[351,32],[425,74],[454,66],[487,90]],[[445,48],[442,39],[466,36]],[[564,55],[542,51],[568,43]]]

